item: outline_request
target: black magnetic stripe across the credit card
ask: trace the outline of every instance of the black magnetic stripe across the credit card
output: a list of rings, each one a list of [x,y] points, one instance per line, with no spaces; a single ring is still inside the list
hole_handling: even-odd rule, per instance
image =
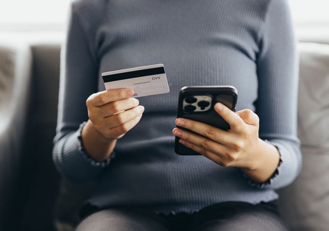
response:
[[[104,83],[107,83],[107,82],[113,82],[122,79],[131,79],[131,78],[137,78],[137,77],[155,75],[155,74],[164,74],[164,73],[165,73],[164,67],[160,66],[160,67],[144,69],[144,70],[134,70],[124,73],[105,75],[103,76],[103,80]]]

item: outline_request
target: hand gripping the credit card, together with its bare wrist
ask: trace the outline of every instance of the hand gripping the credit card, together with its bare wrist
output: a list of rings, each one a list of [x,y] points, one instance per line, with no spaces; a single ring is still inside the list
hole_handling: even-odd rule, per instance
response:
[[[82,143],[88,154],[104,161],[116,142],[141,120],[144,107],[131,98],[132,89],[106,90],[92,94],[86,101],[89,120],[84,126]]]

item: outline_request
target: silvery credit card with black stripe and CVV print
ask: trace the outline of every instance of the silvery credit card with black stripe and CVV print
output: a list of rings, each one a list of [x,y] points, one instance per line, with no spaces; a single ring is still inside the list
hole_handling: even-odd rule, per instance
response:
[[[103,72],[102,77],[106,90],[131,88],[134,98],[170,91],[163,64]]]

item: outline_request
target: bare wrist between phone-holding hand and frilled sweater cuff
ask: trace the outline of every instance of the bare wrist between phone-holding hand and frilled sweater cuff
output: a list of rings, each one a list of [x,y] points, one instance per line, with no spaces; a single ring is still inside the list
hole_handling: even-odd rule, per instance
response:
[[[259,139],[254,155],[257,158],[251,167],[241,169],[253,181],[263,183],[273,175],[279,165],[280,154],[275,146]]]

